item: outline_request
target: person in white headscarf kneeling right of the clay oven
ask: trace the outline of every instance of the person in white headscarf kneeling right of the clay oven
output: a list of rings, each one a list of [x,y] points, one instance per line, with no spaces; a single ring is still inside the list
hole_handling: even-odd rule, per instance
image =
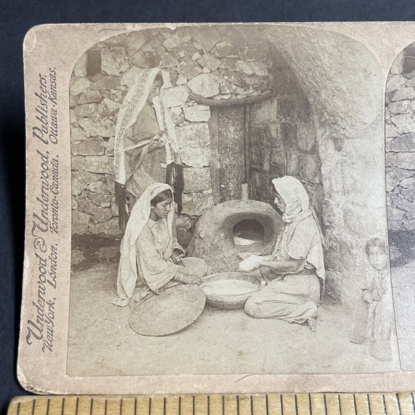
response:
[[[285,225],[272,254],[262,256],[256,266],[267,285],[247,301],[245,311],[256,318],[307,322],[314,332],[325,279],[324,238],[301,182],[283,176],[272,183]]]

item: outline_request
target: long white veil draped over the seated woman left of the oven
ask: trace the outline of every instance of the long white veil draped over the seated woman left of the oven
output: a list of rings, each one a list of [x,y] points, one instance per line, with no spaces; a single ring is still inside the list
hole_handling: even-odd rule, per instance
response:
[[[144,225],[149,220],[151,213],[151,200],[154,199],[159,193],[164,190],[170,190],[173,195],[172,188],[165,183],[153,183],[144,193],[139,200],[135,203],[131,210],[127,227],[125,228],[125,234],[122,238],[120,245],[120,265],[118,267],[117,278],[117,294],[118,298],[112,301],[112,304],[124,307],[129,303],[132,297],[135,285],[137,282],[137,258],[135,243],[144,228]],[[167,229],[172,239],[172,225],[174,216],[174,202],[171,201],[170,212],[168,212],[167,218],[163,219],[167,221]]]

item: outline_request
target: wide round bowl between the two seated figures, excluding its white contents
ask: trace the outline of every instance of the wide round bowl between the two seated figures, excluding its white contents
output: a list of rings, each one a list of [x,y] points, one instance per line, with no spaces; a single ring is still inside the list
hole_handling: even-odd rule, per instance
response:
[[[202,278],[203,286],[212,281],[218,280],[240,280],[248,281],[252,284],[252,291],[242,294],[206,294],[206,303],[216,308],[241,308],[245,305],[248,298],[252,296],[261,287],[261,280],[254,274],[242,272],[223,272],[219,274],[208,275]]]

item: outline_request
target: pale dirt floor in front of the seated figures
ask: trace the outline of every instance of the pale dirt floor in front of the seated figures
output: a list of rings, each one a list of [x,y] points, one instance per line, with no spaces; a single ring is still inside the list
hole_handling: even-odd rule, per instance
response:
[[[116,297],[119,256],[114,242],[101,241],[95,252],[73,247],[70,376],[399,370],[397,359],[378,361],[367,346],[349,342],[353,319],[338,305],[320,307],[315,333],[305,325],[254,319],[243,308],[220,310],[206,305],[198,320],[181,332],[141,336],[129,327],[130,308],[111,303]],[[398,356],[396,347],[394,355]]]

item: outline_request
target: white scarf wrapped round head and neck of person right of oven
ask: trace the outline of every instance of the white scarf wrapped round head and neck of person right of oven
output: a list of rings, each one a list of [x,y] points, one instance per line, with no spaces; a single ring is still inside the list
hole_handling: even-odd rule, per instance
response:
[[[301,182],[293,176],[273,179],[272,184],[286,204],[284,222],[293,222],[300,212],[308,210],[308,194]]]

